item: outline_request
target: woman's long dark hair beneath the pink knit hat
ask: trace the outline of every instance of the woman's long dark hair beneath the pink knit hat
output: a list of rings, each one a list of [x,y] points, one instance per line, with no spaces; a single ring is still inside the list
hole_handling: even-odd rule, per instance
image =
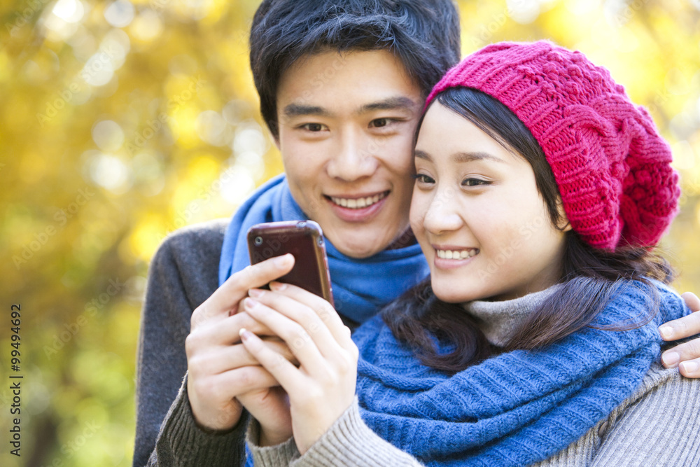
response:
[[[562,227],[559,189],[545,153],[510,109],[484,92],[470,88],[449,88],[437,95],[431,105],[435,102],[470,120],[508,151],[525,158],[533,167],[535,183],[552,224]],[[544,347],[585,326],[592,326],[591,322],[621,287],[629,286],[629,281],[633,280],[647,285],[648,314],[639,316],[636,322],[617,323],[605,329],[643,326],[659,308],[658,296],[647,278],[668,284],[673,280],[673,270],[664,258],[650,249],[633,246],[619,247],[614,252],[595,249],[569,230],[564,239],[562,285],[528,316],[504,350]],[[463,307],[435,297],[430,279],[388,305],[382,318],[396,339],[409,344],[424,365],[437,370],[461,371],[487,358],[493,351],[479,323]],[[451,344],[453,349],[439,354],[433,336]]]

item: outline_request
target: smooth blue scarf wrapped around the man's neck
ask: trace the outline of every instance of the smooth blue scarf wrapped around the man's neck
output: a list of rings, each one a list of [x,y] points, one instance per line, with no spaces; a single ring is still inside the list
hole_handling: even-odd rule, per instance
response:
[[[283,175],[258,188],[233,216],[226,229],[219,262],[219,286],[250,265],[246,232],[261,222],[297,221],[308,217],[293,199]],[[385,250],[356,259],[325,242],[335,309],[357,323],[416,285],[430,272],[419,244]]]

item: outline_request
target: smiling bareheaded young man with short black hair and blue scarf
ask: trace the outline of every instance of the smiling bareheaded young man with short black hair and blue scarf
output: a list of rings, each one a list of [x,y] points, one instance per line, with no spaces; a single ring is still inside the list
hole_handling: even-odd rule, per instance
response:
[[[290,263],[244,270],[249,225],[321,224],[337,311],[350,327],[426,275],[408,230],[414,130],[430,88],[460,58],[459,41],[450,0],[263,1],[251,67],[286,178],[260,188],[232,221],[183,229],[156,253],[139,340],[134,466],[240,465],[248,414],[239,400],[253,415],[286,416],[265,405],[279,389],[239,344],[239,329],[271,336],[269,346],[293,357],[235,312],[248,289]]]

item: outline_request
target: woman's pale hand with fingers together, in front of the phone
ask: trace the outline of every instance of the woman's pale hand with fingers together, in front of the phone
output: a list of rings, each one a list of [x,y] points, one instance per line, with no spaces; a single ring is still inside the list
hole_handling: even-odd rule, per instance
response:
[[[328,431],[355,397],[358,349],[350,329],[323,298],[288,284],[251,290],[244,309],[284,340],[300,367],[250,330],[243,343],[289,396],[294,440],[301,454]]]

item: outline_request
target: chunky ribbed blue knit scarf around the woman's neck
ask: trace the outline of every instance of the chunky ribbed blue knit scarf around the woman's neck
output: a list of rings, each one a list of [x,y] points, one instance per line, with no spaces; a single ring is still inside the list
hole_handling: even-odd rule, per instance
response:
[[[689,313],[675,292],[653,284],[660,312],[645,326],[584,328],[545,349],[500,354],[452,376],[421,365],[377,316],[353,334],[360,413],[382,438],[428,466],[547,459],[631,396],[659,356],[657,326]],[[619,326],[646,316],[645,287],[621,287],[593,324]]]

